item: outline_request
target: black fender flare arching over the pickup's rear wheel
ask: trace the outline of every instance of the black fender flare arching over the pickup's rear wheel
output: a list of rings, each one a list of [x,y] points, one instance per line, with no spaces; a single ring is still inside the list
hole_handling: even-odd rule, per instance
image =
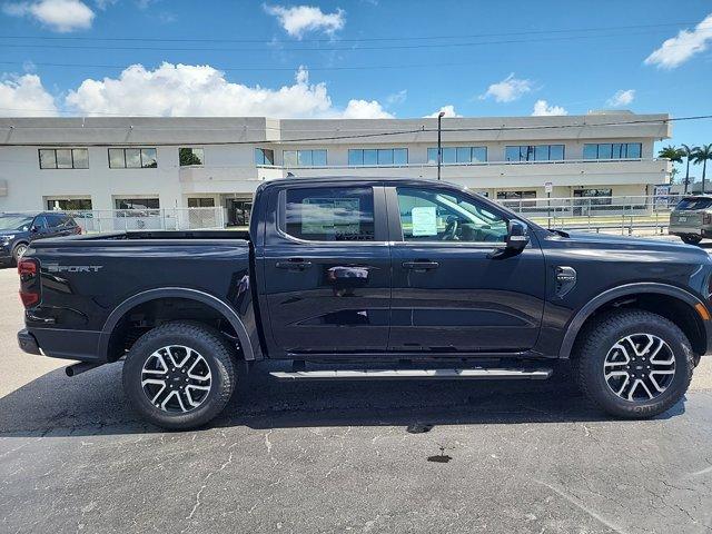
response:
[[[161,287],[155,289],[148,289],[146,291],[141,291],[132,297],[127,298],[121,304],[119,304],[107,317],[107,320],[103,324],[103,328],[101,329],[101,335],[99,337],[99,354],[103,359],[109,357],[109,345],[111,340],[111,335],[116,330],[117,326],[120,324],[121,319],[123,319],[127,314],[129,314],[137,306],[146,303],[150,303],[151,300],[161,300],[166,298],[180,298],[186,300],[194,300],[206,305],[217,312],[225,320],[227,320],[239,339],[240,349],[243,350],[243,357],[246,360],[255,359],[255,350],[253,344],[249,338],[249,334],[245,324],[237,315],[237,313],[224,300],[218,297],[210,295],[209,293],[201,291],[199,289],[191,289],[186,287]]]

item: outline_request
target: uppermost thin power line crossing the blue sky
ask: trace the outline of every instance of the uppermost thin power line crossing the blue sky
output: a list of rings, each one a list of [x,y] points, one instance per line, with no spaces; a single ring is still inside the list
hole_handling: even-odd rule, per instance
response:
[[[550,34],[550,33],[575,33],[575,32],[593,32],[609,30],[635,30],[644,28],[671,28],[694,24],[695,22],[668,22],[660,24],[632,24],[632,26],[610,26],[594,28],[561,28],[547,30],[523,30],[494,33],[467,33],[467,34],[447,34],[447,36],[407,36],[407,37],[360,37],[360,38],[329,38],[329,39],[301,39],[300,42],[380,42],[380,41],[418,41],[418,40],[437,40],[437,39],[477,39],[486,37],[511,37],[511,36],[531,36],[531,34]],[[264,44],[291,43],[294,40],[265,40],[265,39],[228,39],[228,38],[160,38],[160,37],[87,37],[87,36],[2,36],[0,39],[31,39],[31,40],[52,40],[52,41],[136,41],[136,42],[248,42]]]

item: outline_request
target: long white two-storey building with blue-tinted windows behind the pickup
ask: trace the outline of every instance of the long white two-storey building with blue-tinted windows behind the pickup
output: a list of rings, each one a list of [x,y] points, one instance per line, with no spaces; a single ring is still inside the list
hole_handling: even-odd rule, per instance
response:
[[[490,198],[650,195],[669,116],[446,118],[442,179]],[[437,119],[0,118],[0,211],[221,207],[263,180],[437,176]]]

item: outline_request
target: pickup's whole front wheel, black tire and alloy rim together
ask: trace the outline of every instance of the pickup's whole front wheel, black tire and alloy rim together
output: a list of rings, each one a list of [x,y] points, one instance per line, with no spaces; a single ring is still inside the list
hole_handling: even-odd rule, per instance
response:
[[[645,418],[682,398],[694,354],[682,330],[666,318],[621,309],[582,333],[573,364],[581,389],[595,405],[619,417]]]

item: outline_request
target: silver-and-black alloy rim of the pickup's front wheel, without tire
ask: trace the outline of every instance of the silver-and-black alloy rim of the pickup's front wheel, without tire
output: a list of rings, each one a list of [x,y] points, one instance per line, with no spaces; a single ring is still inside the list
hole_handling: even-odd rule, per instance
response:
[[[675,376],[675,356],[670,345],[652,334],[619,339],[606,354],[603,374],[609,388],[629,402],[659,397]]]

